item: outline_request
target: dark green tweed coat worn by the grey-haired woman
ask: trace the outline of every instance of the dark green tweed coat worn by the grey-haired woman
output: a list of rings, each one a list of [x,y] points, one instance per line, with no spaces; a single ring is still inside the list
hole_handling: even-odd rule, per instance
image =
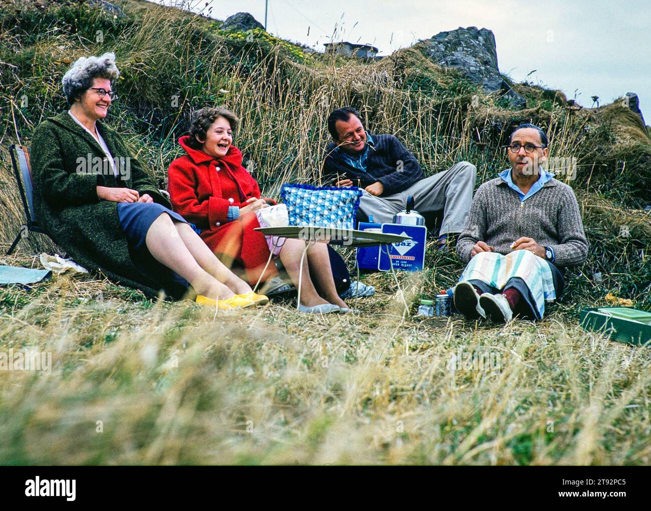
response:
[[[167,208],[171,204],[154,186],[143,165],[133,158],[117,131],[99,120],[96,126],[114,159],[129,158],[129,167],[122,167],[128,179],[115,179],[112,173],[92,173],[92,168],[85,166],[89,154],[90,161],[94,157],[106,159],[98,142],[67,111],[50,117],[36,127],[31,146],[36,219],[81,266],[101,269],[112,281],[156,296],[162,285],[133,264],[118,219],[118,203],[98,199],[96,187],[128,187],[140,195],[148,193],[154,202]]]

